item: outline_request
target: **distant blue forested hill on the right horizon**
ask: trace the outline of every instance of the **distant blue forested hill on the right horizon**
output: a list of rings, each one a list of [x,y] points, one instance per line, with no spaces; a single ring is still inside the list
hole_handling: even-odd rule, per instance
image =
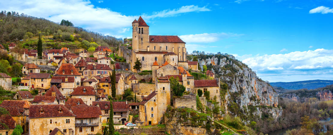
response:
[[[297,81],[297,82],[272,82],[270,85],[276,87],[282,87],[289,90],[298,89],[317,89],[325,87],[327,85],[332,85],[333,80],[308,80],[308,81]]]

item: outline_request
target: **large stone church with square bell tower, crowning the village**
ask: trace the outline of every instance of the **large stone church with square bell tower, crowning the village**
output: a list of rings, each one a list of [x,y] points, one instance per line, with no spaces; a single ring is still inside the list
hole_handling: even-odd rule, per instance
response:
[[[157,61],[162,65],[166,61],[172,66],[187,65],[185,42],[178,36],[155,36],[149,35],[149,26],[139,17],[132,22],[132,60],[131,70],[138,58],[143,70],[152,70],[152,65]]]

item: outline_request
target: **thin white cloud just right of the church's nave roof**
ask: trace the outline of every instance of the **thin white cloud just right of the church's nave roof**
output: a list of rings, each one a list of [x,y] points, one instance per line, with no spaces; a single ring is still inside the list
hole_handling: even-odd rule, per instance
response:
[[[216,42],[221,39],[241,36],[243,34],[233,34],[233,33],[202,33],[202,34],[190,34],[179,36],[181,40],[186,43],[211,43]]]

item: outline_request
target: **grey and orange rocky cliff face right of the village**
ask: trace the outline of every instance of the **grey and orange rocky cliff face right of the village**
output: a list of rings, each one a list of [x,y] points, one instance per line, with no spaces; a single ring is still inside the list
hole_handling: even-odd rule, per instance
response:
[[[275,119],[282,114],[282,109],[278,107],[278,94],[247,65],[227,54],[200,55],[198,59],[201,69],[206,65],[215,77],[221,79],[221,103],[226,112],[259,116],[268,113]],[[223,90],[222,83],[227,84],[227,90]]]

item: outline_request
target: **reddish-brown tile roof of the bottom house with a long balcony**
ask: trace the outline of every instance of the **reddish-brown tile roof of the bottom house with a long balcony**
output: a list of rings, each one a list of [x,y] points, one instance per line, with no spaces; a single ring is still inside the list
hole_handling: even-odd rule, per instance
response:
[[[75,118],[98,118],[102,115],[98,106],[72,106],[71,110],[76,115]]]

